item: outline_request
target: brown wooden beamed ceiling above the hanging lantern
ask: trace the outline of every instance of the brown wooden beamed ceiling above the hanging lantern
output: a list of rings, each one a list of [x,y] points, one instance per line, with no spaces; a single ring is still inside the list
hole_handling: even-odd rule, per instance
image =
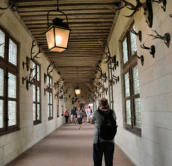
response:
[[[44,32],[47,12],[56,9],[56,0],[15,0],[17,11],[46,56],[55,62],[66,83],[91,83],[96,64],[103,55],[103,43],[110,33],[119,0],[59,0],[59,9],[67,14],[71,35],[63,53],[49,52]],[[64,18],[51,13],[50,19]]]

